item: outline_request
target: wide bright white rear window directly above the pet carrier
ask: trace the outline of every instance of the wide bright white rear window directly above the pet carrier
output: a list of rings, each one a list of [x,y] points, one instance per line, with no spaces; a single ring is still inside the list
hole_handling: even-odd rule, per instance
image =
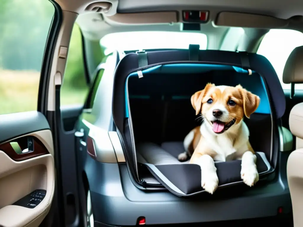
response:
[[[105,35],[100,44],[108,51],[188,49],[189,44],[199,44],[200,50],[206,50],[207,36],[198,32],[180,31],[116,32]]]

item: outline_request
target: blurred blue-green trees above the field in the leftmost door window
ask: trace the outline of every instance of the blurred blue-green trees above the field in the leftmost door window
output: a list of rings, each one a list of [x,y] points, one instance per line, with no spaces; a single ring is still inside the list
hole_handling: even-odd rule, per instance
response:
[[[0,1],[0,68],[40,71],[54,11],[47,0]]]

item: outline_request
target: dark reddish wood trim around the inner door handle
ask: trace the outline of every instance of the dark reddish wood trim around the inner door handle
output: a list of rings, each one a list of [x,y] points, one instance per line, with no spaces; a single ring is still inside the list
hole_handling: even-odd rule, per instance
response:
[[[27,139],[28,136],[25,137],[20,137],[15,140],[11,140],[9,142],[5,142],[0,144],[0,150],[2,150],[4,153],[6,153],[12,160],[14,161],[23,161],[27,159],[31,159],[37,156],[49,154],[48,150],[44,146],[44,144],[35,136],[29,136],[32,137],[34,140],[34,151],[28,152],[28,153],[23,153],[23,154],[17,154],[15,150],[12,148],[12,145],[10,144],[11,142],[17,142],[21,148],[21,150],[24,150],[28,148],[27,145]]]

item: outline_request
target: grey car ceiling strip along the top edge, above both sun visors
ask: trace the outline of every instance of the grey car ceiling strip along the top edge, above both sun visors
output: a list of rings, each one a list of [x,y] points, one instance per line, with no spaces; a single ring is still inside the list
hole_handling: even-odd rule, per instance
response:
[[[56,0],[63,10],[82,13],[92,0]],[[218,11],[251,12],[288,19],[303,14],[303,1],[298,0],[106,0],[117,5],[117,12],[146,12],[174,8],[216,8]]]

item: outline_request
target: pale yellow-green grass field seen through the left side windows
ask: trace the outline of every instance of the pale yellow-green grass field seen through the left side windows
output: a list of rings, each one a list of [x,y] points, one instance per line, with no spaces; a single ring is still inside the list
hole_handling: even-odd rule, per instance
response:
[[[37,110],[40,72],[0,69],[0,114]],[[61,90],[61,106],[83,104],[87,89],[67,84]]]

